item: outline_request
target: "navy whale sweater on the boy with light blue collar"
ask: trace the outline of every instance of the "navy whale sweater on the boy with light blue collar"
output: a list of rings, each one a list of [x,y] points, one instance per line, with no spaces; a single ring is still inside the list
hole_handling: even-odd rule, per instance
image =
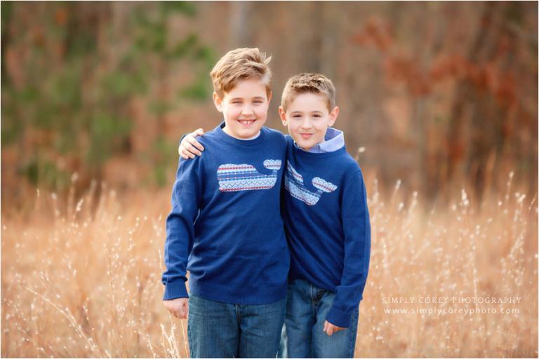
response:
[[[363,298],[371,257],[371,224],[361,169],[345,147],[310,153],[288,141],[284,221],[289,279],[335,292],[326,320],[350,325]]]

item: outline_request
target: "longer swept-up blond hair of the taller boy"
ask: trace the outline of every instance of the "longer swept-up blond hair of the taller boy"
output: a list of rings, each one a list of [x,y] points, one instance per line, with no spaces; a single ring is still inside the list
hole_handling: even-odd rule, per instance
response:
[[[258,48],[237,48],[221,57],[210,72],[213,90],[219,97],[246,79],[260,79],[271,93],[272,72],[267,65],[272,57],[266,57]]]

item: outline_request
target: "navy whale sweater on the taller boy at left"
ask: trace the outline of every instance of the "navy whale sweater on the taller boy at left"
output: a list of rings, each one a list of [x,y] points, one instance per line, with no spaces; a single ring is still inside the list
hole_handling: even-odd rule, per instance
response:
[[[286,140],[262,128],[237,140],[220,126],[197,138],[204,156],[180,158],[166,219],[164,299],[268,304],[286,297],[290,255],[279,194]]]

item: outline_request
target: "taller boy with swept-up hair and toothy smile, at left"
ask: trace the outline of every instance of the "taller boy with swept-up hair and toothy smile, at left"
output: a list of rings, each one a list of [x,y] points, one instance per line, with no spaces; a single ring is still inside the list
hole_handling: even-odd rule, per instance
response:
[[[263,126],[272,97],[268,62],[258,48],[218,61],[210,75],[224,121],[201,137],[205,156],[178,164],[164,304],[188,317],[193,358],[277,355],[290,257],[279,201],[286,140]]]

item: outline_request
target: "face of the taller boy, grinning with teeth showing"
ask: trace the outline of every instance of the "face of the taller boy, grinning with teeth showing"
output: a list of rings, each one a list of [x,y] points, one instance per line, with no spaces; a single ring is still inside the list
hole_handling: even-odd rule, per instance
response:
[[[266,122],[271,97],[260,79],[239,81],[222,98],[213,93],[215,107],[225,118],[223,131],[240,140],[258,135]]]

